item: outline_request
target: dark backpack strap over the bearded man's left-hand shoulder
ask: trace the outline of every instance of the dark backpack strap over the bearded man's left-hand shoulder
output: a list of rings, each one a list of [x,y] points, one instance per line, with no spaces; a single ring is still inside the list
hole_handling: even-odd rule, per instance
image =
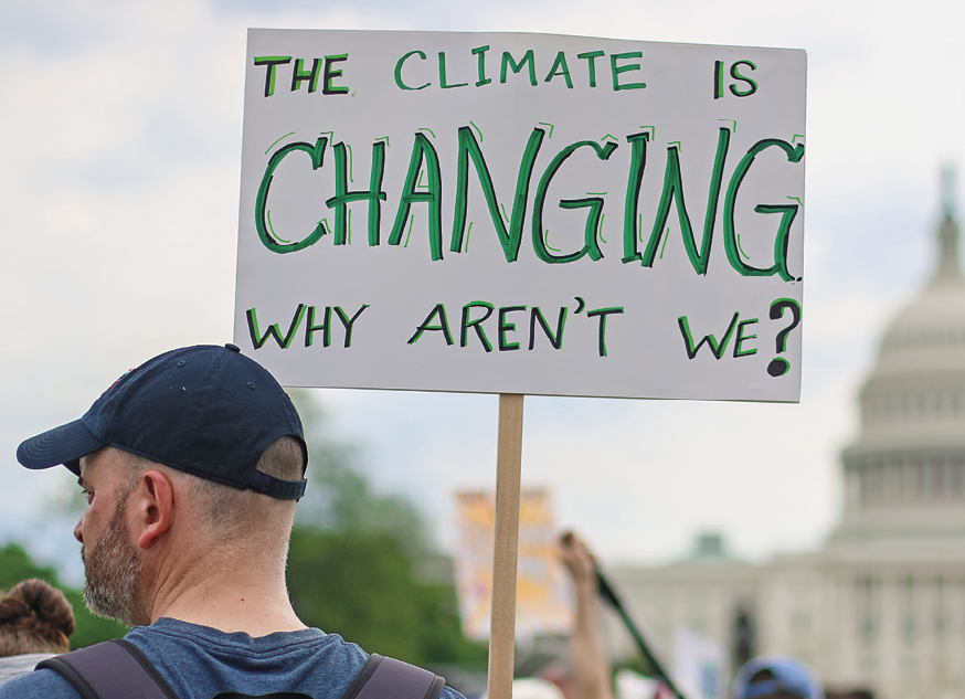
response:
[[[38,663],[66,679],[82,699],[178,699],[140,648],[115,638]]]

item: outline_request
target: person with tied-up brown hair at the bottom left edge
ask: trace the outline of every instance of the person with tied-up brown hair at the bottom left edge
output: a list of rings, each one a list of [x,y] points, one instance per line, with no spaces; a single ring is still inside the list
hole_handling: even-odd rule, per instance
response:
[[[24,580],[0,597],[0,685],[71,649],[74,610],[43,580]]]

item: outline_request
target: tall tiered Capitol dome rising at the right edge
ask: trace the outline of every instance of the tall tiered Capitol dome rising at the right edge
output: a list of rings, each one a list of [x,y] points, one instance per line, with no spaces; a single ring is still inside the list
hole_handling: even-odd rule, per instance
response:
[[[965,536],[965,280],[947,198],[937,239],[930,282],[891,322],[860,392],[833,542]]]

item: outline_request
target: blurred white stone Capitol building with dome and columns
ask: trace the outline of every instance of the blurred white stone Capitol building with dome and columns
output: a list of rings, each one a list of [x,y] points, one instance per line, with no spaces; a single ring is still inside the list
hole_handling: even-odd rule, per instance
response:
[[[689,625],[717,640],[733,677],[750,652],[808,665],[830,689],[879,699],[965,699],[965,282],[946,202],[937,265],[884,333],[842,451],[840,523],[813,553],[756,565],[703,537],[690,559],[614,570],[668,664]],[[626,635],[612,629],[617,654]],[[746,634],[744,634],[746,642]],[[746,646],[746,643],[745,643]],[[720,696],[725,696],[723,689]]]

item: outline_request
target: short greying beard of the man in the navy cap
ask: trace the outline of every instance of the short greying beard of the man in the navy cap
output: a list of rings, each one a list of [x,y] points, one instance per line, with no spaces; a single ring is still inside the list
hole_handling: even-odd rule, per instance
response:
[[[81,547],[86,583],[84,602],[97,616],[115,618],[135,626],[134,595],[141,560],[130,544],[130,530],[124,516],[127,497],[117,501],[107,531],[89,547]]]

